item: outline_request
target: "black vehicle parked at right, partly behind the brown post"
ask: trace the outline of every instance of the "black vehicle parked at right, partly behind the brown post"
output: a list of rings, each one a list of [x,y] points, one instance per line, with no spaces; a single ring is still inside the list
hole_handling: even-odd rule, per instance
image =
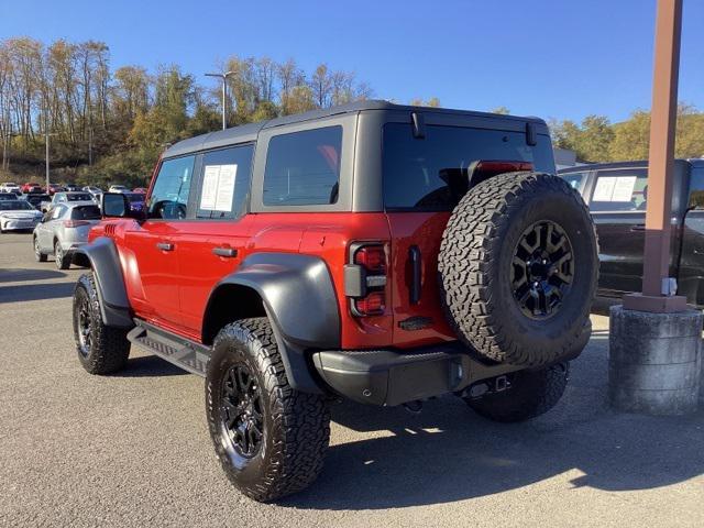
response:
[[[559,172],[590,207],[600,245],[598,295],[617,301],[640,292],[646,240],[648,162]],[[704,160],[676,160],[672,189],[670,276],[688,302],[704,308]]]

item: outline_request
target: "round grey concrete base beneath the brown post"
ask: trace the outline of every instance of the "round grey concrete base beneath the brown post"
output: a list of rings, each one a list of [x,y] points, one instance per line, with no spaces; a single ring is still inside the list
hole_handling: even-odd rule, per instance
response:
[[[610,309],[608,396],[613,407],[647,415],[697,408],[702,376],[700,310],[652,314]]]

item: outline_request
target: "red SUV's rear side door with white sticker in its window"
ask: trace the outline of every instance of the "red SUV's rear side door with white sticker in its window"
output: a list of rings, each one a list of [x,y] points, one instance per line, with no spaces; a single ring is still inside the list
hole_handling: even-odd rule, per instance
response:
[[[253,155],[252,143],[201,154],[190,200],[195,218],[180,223],[172,238],[179,263],[182,321],[194,338],[200,338],[213,287],[244,258],[252,224],[246,212]]]

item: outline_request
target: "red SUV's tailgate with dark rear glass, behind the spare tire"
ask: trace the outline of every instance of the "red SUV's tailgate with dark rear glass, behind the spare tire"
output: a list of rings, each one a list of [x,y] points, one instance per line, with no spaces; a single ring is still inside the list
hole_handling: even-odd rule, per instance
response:
[[[450,213],[466,191],[469,174],[477,162],[528,162],[537,170],[556,172],[550,139],[538,134],[538,144],[527,145],[525,122],[502,121],[507,130],[493,130],[480,128],[481,123],[475,128],[433,124],[426,117],[425,138],[418,138],[407,118],[386,123],[383,133],[394,342],[402,346],[454,339],[440,307],[438,253]]]

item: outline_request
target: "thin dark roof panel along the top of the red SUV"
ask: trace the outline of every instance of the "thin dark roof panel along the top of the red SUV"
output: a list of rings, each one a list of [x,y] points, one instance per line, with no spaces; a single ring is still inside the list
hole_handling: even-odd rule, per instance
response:
[[[179,141],[164,152],[162,157],[175,157],[183,154],[188,154],[204,148],[215,148],[218,146],[226,146],[234,143],[244,143],[255,141],[257,134],[263,129],[271,129],[275,127],[282,127],[284,124],[300,123],[304,121],[312,121],[316,119],[329,118],[332,116],[340,116],[343,113],[358,113],[367,110],[395,110],[407,112],[426,112],[426,113],[451,113],[461,116],[473,116],[482,118],[494,119],[507,119],[516,121],[532,121],[544,125],[544,121],[540,118],[534,117],[518,117],[518,116],[505,116],[491,112],[477,112],[471,110],[453,110],[448,108],[437,107],[414,107],[407,105],[396,105],[384,100],[366,100],[355,101],[348,105],[341,105],[338,107],[331,107],[323,110],[311,110],[309,112],[296,113],[293,116],[284,116],[282,118],[275,118],[270,121],[260,121],[256,123],[243,124],[240,127],[233,127],[231,129],[218,130],[216,132],[209,132],[207,134],[197,135],[187,140]]]

